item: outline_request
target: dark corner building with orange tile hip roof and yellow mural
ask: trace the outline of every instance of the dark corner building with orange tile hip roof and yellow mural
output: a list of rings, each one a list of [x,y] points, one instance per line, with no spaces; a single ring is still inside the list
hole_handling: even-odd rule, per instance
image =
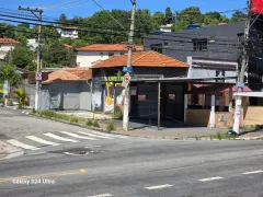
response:
[[[114,56],[101,61],[92,69],[92,107],[94,111],[122,114],[124,89],[122,86],[123,67],[127,65],[127,55]],[[144,79],[180,78],[187,76],[185,62],[148,50],[133,54],[133,73],[130,83],[130,116],[137,118],[157,118],[158,83],[145,83]],[[133,81],[135,79],[135,81]],[[161,111],[164,115],[184,118],[184,83],[163,83],[161,85]]]

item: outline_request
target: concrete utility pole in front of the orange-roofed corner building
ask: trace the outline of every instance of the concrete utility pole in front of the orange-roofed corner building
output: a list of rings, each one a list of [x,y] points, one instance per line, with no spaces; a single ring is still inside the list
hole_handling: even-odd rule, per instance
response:
[[[136,13],[136,0],[133,0],[133,1],[130,0],[130,2],[133,4],[133,10],[132,10],[130,31],[129,31],[129,36],[128,36],[127,68],[132,67],[132,61],[133,61],[135,13]],[[129,85],[125,89],[125,96],[124,96],[123,129],[125,131],[128,130],[128,123],[129,123]]]

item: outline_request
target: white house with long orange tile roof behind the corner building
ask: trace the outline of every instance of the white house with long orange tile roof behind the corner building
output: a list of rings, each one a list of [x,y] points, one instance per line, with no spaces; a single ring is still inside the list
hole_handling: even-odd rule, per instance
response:
[[[134,51],[142,51],[142,46],[134,46]],[[90,68],[101,60],[108,59],[112,56],[125,55],[128,51],[124,44],[94,44],[77,48],[77,65],[79,67]]]

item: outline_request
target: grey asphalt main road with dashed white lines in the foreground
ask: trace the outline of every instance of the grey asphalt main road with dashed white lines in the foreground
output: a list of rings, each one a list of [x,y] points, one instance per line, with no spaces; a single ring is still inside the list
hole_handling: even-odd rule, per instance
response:
[[[0,196],[262,197],[262,155],[260,140],[81,139],[0,161]]]

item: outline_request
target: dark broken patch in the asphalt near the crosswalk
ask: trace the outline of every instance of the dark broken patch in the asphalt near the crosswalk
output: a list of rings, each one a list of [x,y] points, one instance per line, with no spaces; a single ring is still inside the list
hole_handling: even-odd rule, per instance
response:
[[[57,150],[52,151],[52,153],[62,153],[66,155],[87,155],[87,154],[98,154],[102,153],[102,150],[95,150],[90,148],[76,148],[76,149],[68,149],[68,150]]]

